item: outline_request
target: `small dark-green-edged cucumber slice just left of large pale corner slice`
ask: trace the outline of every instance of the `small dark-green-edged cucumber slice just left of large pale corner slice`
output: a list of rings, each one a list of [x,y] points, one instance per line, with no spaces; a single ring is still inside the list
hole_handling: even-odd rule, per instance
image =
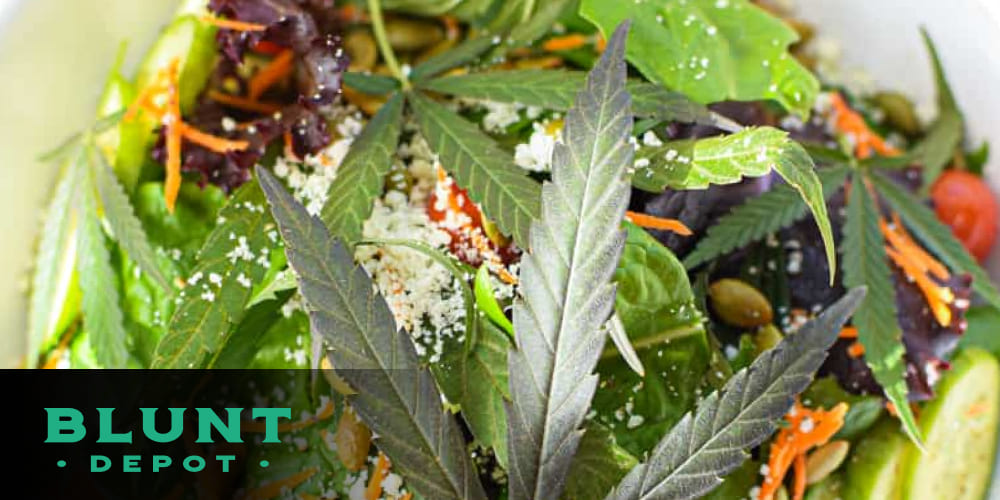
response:
[[[899,422],[885,418],[854,445],[847,459],[843,498],[898,500],[899,471],[912,445],[899,431]]]

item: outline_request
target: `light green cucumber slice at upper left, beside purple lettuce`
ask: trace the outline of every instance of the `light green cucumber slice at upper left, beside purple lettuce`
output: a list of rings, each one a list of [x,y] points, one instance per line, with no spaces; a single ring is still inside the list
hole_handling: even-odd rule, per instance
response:
[[[136,88],[145,88],[161,69],[179,57],[181,112],[190,111],[212,73],[216,57],[215,32],[214,26],[192,14],[174,19],[139,65]]]

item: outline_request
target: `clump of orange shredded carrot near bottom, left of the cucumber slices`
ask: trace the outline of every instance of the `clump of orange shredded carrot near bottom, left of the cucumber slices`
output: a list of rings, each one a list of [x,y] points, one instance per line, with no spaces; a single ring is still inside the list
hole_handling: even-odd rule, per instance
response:
[[[792,410],[785,415],[785,422],[788,425],[778,431],[771,444],[767,475],[764,477],[757,498],[772,500],[784,482],[788,469],[793,464],[798,468],[797,462],[800,458],[804,458],[810,449],[826,444],[843,427],[846,414],[846,403],[840,403],[830,410],[812,410],[796,401]],[[801,480],[804,481],[804,478]],[[798,481],[800,479],[796,478],[796,493],[798,493]],[[801,496],[797,495],[795,498]]]

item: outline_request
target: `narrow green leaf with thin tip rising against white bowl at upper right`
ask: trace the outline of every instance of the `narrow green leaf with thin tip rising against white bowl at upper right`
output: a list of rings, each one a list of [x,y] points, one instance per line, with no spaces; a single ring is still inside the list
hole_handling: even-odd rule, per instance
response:
[[[944,167],[951,161],[955,154],[955,148],[961,144],[965,124],[962,112],[958,109],[958,103],[955,102],[955,95],[952,94],[951,86],[948,85],[948,79],[944,74],[944,67],[941,65],[941,59],[934,47],[934,42],[927,34],[926,29],[921,29],[920,33],[924,37],[924,44],[927,46],[927,53],[930,55],[934,67],[938,117],[931,124],[924,138],[906,157],[923,166],[924,193],[927,193],[934,181],[944,171]]]

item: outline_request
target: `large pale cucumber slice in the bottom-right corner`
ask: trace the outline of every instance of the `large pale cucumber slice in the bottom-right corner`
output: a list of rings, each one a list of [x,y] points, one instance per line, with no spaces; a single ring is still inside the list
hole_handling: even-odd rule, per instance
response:
[[[965,349],[920,415],[926,451],[908,447],[903,498],[978,500],[989,486],[1000,414],[1000,363]]]

